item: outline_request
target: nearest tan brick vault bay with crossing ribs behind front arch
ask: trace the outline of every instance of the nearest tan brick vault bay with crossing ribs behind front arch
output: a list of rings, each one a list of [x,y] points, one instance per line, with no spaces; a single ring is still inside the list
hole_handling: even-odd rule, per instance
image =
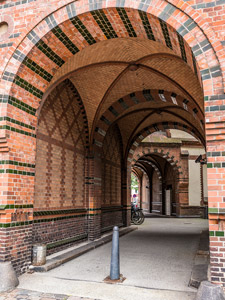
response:
[[[90,131],[118,99],[143,89],[176,93],[196,103],[198,110],[203,111],[198,78],[190,66],[177,55],[171,56],[172,53],[175,55],[171,49],[154,41],[139,38],[109,40],[76,54],[60,69],[53,82],[63,73],[69,73],[83,100]],[[136,62],[137,70],[132,71],[130,65]]]

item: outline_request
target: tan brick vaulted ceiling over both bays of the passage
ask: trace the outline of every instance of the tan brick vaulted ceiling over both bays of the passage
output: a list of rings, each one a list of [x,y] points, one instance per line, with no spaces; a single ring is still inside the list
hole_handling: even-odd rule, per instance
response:
[[[108,47],[108,44],[111,47]],[[154,45],[156,49],[153,47]],[[95,51],[93,50],[94,48]],[[136,51],[134,51],[134,48]],[[151,51],[155,53],[154,51],[159,51],[159,48],[161,54],[158,53],[157,56],[151,56]],[[112,49],[114,50],[113,52]],[[132,51],[130,51],[131,49]],[[141,57],[143,49],[145,51]],[[90,50],[90,53],[88,50]],[[167,54],[165,53],[168,50],[171,52],[170,49],[153,41],[131,38],[115,39],[95,44],[79,52],[71,59],[73,68],[76,65],[76,61],[77,63],[83,62],[83,65],[81,66],[80,64],[76,71],[70,73],[69,77],[84,103],[90,132],[94,131],[102,115],[110,107],[114,107],[119,99],[137,91],[155,90],[163,91],[163,93],[167,92],[170,95],[174,93],[182,98],[181,103],[183,103],[184,99],[188,100],[191,109],[187,112],[184,110],[183,104],[178,108],[173,103],[164,103],[159,99],[157,92],[156,98],[158,97],[158,101],[155,103],[137,103],[138,105],[135,105],[135,107],[128,105],[126,111],[122,113],[122,116],[125,117],[126,115],[126,118],[122,119],[120,116],[119,120],[124,149],[126,149],[126,143],[130,139],[131,134],[137,134],[138,130],[143,129],[147,125],[157,123],[157,121],[179,122],[182,120],[184,124],[195,126],[204,135],[199,123],[200,120],[204,120],[204,117],[203,94],[198,78],[193,74],[193,70],[180,58],[166,56]],[[108,51],[110,52],[109,56],[107,55]],[[99,52],[103,53],[102,60],[97,55],[97,59],[94,56],[94,62],[92,63],[90,56],[95,53],[99,54]],[[85,57],[89,60],[87,60],[87,65],[84,64]],[[110,58],[111,60],[109,60]],[[96,60],[98,60],[98,63],[96,63]],[[140,63],[135,65],[134,62],[136,61]],[[126,102],[126,100],[124,101]],[[167,110],[168,113],[163,113],[163,115],[154,114],[145,120],[146,116],[151,112],[149,109],[160,107]],[[146,110],[146,112],[140,113],[141,109]],[[192,115],[193,109],[198,111],[198,120]],[[138,111],[138,115],[133,113],[132,116],[128,117],[127,114],[131,111]],[[142,121],[144,121],[143,124],[141,124]],[[131,123],[132,126],[130,126]],[[137,127],[136,130],[133,127]]]

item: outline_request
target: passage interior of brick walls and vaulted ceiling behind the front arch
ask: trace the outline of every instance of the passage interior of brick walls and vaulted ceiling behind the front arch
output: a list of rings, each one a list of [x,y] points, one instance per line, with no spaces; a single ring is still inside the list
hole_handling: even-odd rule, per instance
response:
[[[39,111],[33,227],[33,241],[47,243],[49,253],[88,238],[90,211],[98,234],[129,224],[126,187],[144,137],[181,129],[204,143],[202,88],[193,57],[190,66],[171,51],[138,37],[102,41],[71,57],[52,79]],[[133,170],[144,169],[151,187],[143,208],[199,215],[201,204],[191,208],[187,176],[179,175],[173,161],[162,153],[135,161]]]

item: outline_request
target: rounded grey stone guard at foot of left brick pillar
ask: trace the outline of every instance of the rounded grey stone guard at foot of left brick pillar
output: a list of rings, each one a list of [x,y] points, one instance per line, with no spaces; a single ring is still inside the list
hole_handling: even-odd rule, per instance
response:
[[[0,262],[0,278],[0,292],[13,290],[19,284],[10,261]]]

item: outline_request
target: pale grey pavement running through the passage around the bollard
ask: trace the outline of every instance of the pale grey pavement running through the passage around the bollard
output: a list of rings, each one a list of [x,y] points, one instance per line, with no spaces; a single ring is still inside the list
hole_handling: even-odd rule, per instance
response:
[[[202,219],[148,218],[120,239],[123,283],[104,282],[110,266],[108,243],[51,271],[23,274],[15,294],[0,300],[194,300],[197,290],[188,284],[207,227]]]

